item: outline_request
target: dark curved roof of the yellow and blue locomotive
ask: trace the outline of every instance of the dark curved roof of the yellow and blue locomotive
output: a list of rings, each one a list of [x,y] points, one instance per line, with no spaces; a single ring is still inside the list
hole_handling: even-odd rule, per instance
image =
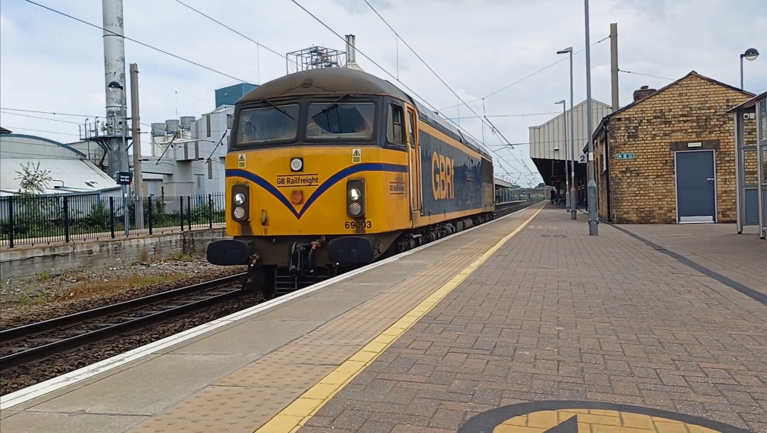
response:
[[[375,75],[346,67],[321,67],[276,78],[249,91],[237,101],[237,104],[282,97],[341,96],[348,93],[390,95],[406,100],[418,108],[420,118],[426,120],[426,123],[443,130],[443,133],[453,136],[454,139],[466,144],[487,159],[492,159],[489,153],[479,146],[479,143],[470,139],[465,133],[459,132],[422,103],[413,100],[399,87]]]

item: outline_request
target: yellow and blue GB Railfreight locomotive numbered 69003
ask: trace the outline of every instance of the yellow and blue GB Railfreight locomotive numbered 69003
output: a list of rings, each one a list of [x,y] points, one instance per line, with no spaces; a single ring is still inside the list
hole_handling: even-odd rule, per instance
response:
[[[297,290],[492,219],[492,158],[386,80],[321,68],[235,104],[226,233],[207,259]]]

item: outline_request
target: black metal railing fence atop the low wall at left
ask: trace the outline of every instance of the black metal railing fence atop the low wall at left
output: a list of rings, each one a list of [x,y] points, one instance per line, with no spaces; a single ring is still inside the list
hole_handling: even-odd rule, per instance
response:
[[[0,247],[185,231],[225,222],[223,192],[160,197],[0,197]]]

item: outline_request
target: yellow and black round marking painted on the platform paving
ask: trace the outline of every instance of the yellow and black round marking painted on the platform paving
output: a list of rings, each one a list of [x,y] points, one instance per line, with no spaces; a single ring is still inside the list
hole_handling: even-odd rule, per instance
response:
[[[606,402],[544,401],[495,408],[469,418],[458,433],[503,431],[504,433],[650,433],[696,431],[698,433],[746,433],[734,425],[706,418]]]

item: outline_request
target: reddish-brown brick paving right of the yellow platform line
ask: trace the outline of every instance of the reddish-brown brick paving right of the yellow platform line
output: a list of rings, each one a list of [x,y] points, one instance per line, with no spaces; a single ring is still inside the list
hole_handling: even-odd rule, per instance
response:
[[[447,433],[579,400],[767,432],[767,306],[617,228],[589,237],[579,217],[541,212],[299,431]],[[678,427],[661,425],[642,431]]]

